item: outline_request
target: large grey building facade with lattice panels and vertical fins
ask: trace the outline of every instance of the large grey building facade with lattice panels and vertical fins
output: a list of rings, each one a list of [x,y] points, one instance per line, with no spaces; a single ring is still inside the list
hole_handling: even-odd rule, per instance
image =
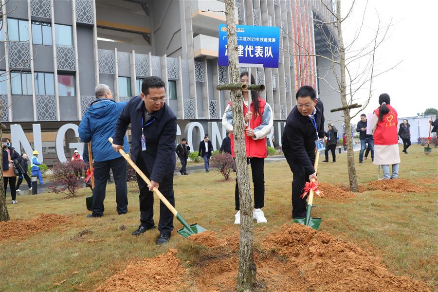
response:
[[[331,0],[325,2],[333,7]],[[0,40],[7,40],[0,46],[4,56],[0,101],[5,109],[1,121],[6,134],[11,125],[19,124],[31,145],[33,125],[39,124],[45,160],[59,158],[52,153],[57,151],[56,131],[66,123],[79,124],[95,98],[95,85],[108,84],[115,100],[125,101],[140,94],[143,78],[150,75],[165,81],[166,102],[179,119],[178,134],[190,136],[194,145],[202,132],[212,128],[221,129],[214,144],[224,136],[218,123],[230,95],[215,89],[229,80],[228,68],[218,66],[223,1],[1,0],[1,4],[5,13]],[[328,83],[335,82],[331,64],[305,56],[329,54],[322,37],[327,32],[314,26],[313,19],[327,20],[331,15],[321,2],[306,0],[236,0],[235,8],[238,24],[281,27],[279,67],[252,69],[256,83],[265,84],[261,97],[272,105],[279,123],[271,139],[279,146],[282,123],[300,86],[317,88],[327,109],[340,105],[337,93],[316,77],[324,73]],[[326,115],[328,121],[340,120],[338,114]],[[71,129],[63,140],[67,157],[74,150],[70,143],[79,142]]]

